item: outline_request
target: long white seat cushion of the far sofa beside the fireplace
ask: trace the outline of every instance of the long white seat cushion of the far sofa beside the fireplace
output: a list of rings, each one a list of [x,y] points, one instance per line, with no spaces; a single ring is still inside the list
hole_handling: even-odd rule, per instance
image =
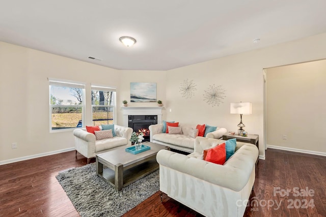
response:
[[[186,135],[181,134],[166,134],[166,133],[159,133],[153,135],[153,140],[164,142],[171,145],[177,145],[180,147],[192,148],[194,149],[195,146],[195,139],[191,138]]]

